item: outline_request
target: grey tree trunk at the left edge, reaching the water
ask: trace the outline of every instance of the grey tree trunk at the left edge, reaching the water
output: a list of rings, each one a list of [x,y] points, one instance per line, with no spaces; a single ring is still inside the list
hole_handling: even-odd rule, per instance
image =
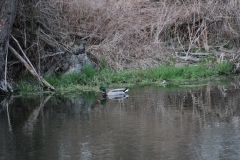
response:
[[[0,0],[0,94],[12,91],[6,80],[5,64],[18,2],[19,0]]]

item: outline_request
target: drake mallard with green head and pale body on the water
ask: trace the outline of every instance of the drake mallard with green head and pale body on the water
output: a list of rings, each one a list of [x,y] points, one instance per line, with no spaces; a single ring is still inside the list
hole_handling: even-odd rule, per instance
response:
[[[113,89],[113,90],[106,92],[106,88],[104,86],[101,86],[99,88],[99,91],[102,91],[103,96],[118,97],[120,95],[126,95],[126,92],[129,91],[129,89],[128,88],[118,88],[118,89]]]

